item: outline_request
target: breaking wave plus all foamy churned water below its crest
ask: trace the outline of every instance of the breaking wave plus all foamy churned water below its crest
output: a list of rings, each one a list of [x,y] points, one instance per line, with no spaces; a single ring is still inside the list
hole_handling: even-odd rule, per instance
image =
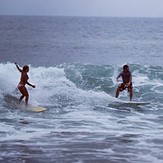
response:
[[[122,65],[30,66],[29,103],[48,108],[33,113],[12,106],[20,73],[0,64],[0,160],[161,162],[163,67],[129,66],[133,100],[149,105],[108,106],[129,99],[127,91],[114,98]]]

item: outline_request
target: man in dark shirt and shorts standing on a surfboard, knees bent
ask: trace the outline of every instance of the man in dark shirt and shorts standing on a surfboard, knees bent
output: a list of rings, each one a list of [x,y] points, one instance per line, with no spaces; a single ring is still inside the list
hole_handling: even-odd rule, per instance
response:
[[[118,82],[118,79],[122,77],[123,83],[121,83],[117,90],[116,90],[116,98],[119,96],[119,92],[122,92],[126,88],[128,89],[128,92],[130,93],[130,101],[132,100],[133,92],[132,92],[132,74],[129,70],[128,65],[123,66],[123,71],[117,76],[116,80]]]

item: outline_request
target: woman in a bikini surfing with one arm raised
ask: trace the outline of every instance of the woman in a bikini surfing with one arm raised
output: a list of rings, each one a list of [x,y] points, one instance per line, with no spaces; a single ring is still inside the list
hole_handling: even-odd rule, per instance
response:
[[[20,99],[19,99],[19,104],[21,103],[21,101],[23,100],[23,98],[25,97],[25,103],[26,103],[26,107],[28,105],[28,99],[29,99],[29,94],[28,94],[28,91],[27,91],[27,88],[25,87],[25,85],[29,85],[33,88],[35,88],[35,85],[31,84],[28,82],[28,72],[29,72],[29,66],[25,65],[23,67],[23,69],[21,69],[17,63],[15,63],[17,69],[20,71],[21,73],[21,78],[20,78],[20,82],[17,86],[17,88],[19,89],[20,93],[22,94],[22,96],[20,96]]]

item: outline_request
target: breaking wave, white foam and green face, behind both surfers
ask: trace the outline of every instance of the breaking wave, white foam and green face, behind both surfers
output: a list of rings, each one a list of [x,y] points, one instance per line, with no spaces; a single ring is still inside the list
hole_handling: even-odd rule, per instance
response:
[[[20,73],[12,63],[0,64],[0,97],[19,96],[17,84]],[[103,104],[115,100],[119,83],[116,76],[122,65],[63,64],[56,67],[30,66],[29,81],[36,89],[28,88],[35,103]],[[130,64],[133,75],[134,99],[162,103],[163,68]],[[127,91],[120,98],[128,98]]]

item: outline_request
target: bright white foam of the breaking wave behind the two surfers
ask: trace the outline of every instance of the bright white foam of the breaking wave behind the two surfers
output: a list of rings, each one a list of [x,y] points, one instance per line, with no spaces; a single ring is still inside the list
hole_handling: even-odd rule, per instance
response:
[[[117,73],[117,71],[118,68],[115,67],[115,72]],[[115,73],[113,77],[115,78]],[[19,79],[20,72],[16,69],[15,64],[0,64],[1,94],[8,93],[19,96],[18,91],[16,94],[14,93]],[[63,97],[75,103],[86,105],[107,105],[109,102],[118,100],[105,92],[78,88],[75,83],[67,79],[64,68],[30,66],[29,82],[36,85],[35,89],[27,86],[32,103],[48,105],[48,103],[55,103]],[[133,72],[133,84],[134,88],[149,84],[160,86],[161,81],[152,81],[146,74],[141,74],[136,70]]]

